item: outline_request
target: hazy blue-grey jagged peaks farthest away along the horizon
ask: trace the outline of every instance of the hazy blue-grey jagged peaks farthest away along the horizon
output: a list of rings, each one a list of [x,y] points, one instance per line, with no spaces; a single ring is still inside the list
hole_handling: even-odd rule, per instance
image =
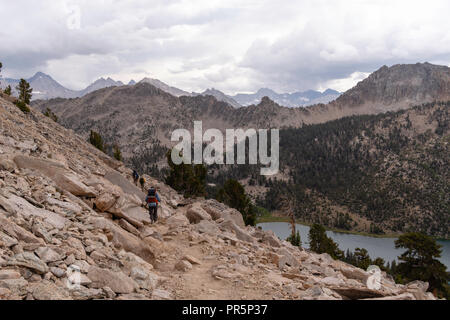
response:
[[[108,87],[119,87],[125,85],[123,82],[115,81],[111,78],[107,79],[100,78],[83,90],[71,90],[62,86],[51,76],[43,72],[37,72],[34,76],[26,80],[30,83],[31,87],[33,88],[32,100],[48,100],[53,98],[79,98],[99,89]],[[15,88],[18,85],[18,83],[19,79],[11,79],[11,78],[0,79],[0,86],[2,88],[5,88],[6,86],[10,85],[11,88],[13,89],[13,94],[16,94]],[[305,92],[280,94],[271,89],[265,88],[260,89],[256,93],[252,94],[239,93],[237,95],[230,96],[214,88],[207,89],[202,93],[187,92],[179,88],[172,87],[158,79],[153,78],[144,78],[141,81],[139,81],[139,83],[149,83],[152,86],[161,89],[167,93],[170,93],[175,97],[181,96],[195,97],[199,95],[202,96],[210,95],[216,98],[218,101],[228,103],[234,108],[240,108],[242,106],[249,106],[252,104],[255,105],[259,104],[263,97],[269,97],[277,104],[285,107],[292,107],[292,108],[302,106],[305,107],[319,103],[328,103],[338,98],[341,94],[331,89],[328,89],[324,92],[309,90]],[[127,85],[131,86],[135,84],[136,81],[131,80]]]

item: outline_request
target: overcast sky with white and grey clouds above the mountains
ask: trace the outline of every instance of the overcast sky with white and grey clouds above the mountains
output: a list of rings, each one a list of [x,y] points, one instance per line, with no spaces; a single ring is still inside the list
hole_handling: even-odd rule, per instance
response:
[[[187,91],[344,91],[383,65],[450,65],[448,0],[0,0],[3,76],[158,78]]]

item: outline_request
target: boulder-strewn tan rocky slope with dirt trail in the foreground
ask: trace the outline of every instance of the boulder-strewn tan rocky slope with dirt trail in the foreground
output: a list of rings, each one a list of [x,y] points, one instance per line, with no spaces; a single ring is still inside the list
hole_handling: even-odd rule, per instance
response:
[[[148,224],[131,170],[0,98],[0,299],[434,299],[243,225],[214,201],[162,196]]]

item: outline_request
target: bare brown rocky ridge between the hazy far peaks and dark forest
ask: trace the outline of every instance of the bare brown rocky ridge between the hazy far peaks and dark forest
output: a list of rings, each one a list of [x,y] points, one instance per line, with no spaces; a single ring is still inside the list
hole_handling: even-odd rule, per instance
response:
[[[62,124],[78,133],[87,134],[91,129],[102,132],[107,142],[123,147],[126,157],[139,148],[147,149],[150,143],[170,145],[171,132],[191,128],[195,120],[202,120],[204,129],[301,128],[352,115],[449,101],[450,68],[428,63],[382,67],[336,100],[306,108],[282,107],[267,96],[257,105],[234,108],[213,96],[217,95],[213,90],[189,95],[176,91],[180,96],[175,96],[167,91],[176,88],[163,90],[155,85],[165,84],[147,79],[77,99],[36,101],[34,105],[41,110],[50,108]],[[155,141],[149,141],[149,137]]]

